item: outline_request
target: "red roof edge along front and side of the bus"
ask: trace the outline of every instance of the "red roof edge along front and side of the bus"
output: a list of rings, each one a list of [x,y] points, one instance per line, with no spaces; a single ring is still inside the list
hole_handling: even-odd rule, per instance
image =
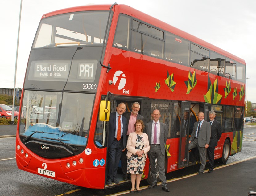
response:
[[[109,10],[111,7],[111,4],[101,4],[101,5],[85,5],[85,6],[77,6],[77,7],[71,7],[71,8],[66,8],[66,9],[61,9],[61,10],[56,10],[53,12],[49,12],[47,14],[44,14],[41,19],[54,16],[57,14],[64,14],[64,13],[70,13],[70,12],[78,12],[78,11],[86,11],[86,10]],[[165,31],[169,31],[177,36],[180,36],[184,39],[187,39],[193,43],[196,43],[202,47],[205,47],[209,50],[215,51],[221,55],[224,55],[230,59],[233,59],[239,63],[242,63],[245,65],[245,60],[225,51],[222,50],[219,47],[214,46],[211,43],[208,43],[202,39],[197,38],[196,36],[193,36],[185,31],[182,31],[176,27],[171,26],[170,24],[167,24],[166,22],[163,22],[159,19],[156,19],[148,14],[145,14],[139,10],[136,10],[130,6],[123,5],[123,4],[117,4],[114,6],[115,11],[118,11],[123,14],[130,15],[134,18],[138,18],[139,20],[142,20],[144,22],[147,22],[148,24],[151,24],[157,28],[163,29]]]

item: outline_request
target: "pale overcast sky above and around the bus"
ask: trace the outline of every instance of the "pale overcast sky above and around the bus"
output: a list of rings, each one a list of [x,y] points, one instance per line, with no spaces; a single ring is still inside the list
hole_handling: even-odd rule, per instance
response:
[[[249,78],[246,100],[256,103],[255,0],[23,0],[15,87],[23,87],[30,49],[43,14],[114,2],[129,5],[244,59]],[[0,7],[0,88],[14,88],[20,0],[1,1]]]

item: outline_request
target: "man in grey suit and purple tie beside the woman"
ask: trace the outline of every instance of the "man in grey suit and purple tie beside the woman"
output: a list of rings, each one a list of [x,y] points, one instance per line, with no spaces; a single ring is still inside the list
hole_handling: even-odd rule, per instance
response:
[[[150,160],[150,172],[153,178],[152,185],[147,188],[151,189],[157,186],[156,178],[156,165],[155,159],[157,159],[159,178],[162,182],[162,190],[169,192],[170,189],[167,188],[166,177],[165,177],[165,144],[167,140],[167,125],[160,122],[159,118],[161,114],[159,110],[154,110],[152,113],[153,121],[146,124],[146,130],[148,135],[148,141],[150,144],[150,150],[148,153]]]

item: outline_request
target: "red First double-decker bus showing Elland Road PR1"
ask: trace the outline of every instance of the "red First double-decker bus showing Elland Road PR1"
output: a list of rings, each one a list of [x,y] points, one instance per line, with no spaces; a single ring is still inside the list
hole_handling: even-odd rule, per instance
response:
[[[161,112],[168,126],[166,172],[199,163],[196,151],[188,152],[188,137],[198,112],[207,120],[214,110],[223,129],[215,159],[226,162],[241,151],[244,95],[244,60],[129,6],[54,11],[43,15],[27,64],[17,165],[105,188],[107,116],[120,102],[127,112],[139,102],[145,123],[154,109]],[[151,182],[149,160],[142,178]]]

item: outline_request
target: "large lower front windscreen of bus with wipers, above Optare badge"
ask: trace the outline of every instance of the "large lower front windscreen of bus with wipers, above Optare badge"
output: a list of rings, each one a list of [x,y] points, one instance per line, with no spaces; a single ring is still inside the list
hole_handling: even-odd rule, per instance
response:
[[[21,140],[47,158],[81,153],[89,134],[93,100],[94,94],[24,91]],[[44,146],[52,148],[52,153],[44,154]]]

